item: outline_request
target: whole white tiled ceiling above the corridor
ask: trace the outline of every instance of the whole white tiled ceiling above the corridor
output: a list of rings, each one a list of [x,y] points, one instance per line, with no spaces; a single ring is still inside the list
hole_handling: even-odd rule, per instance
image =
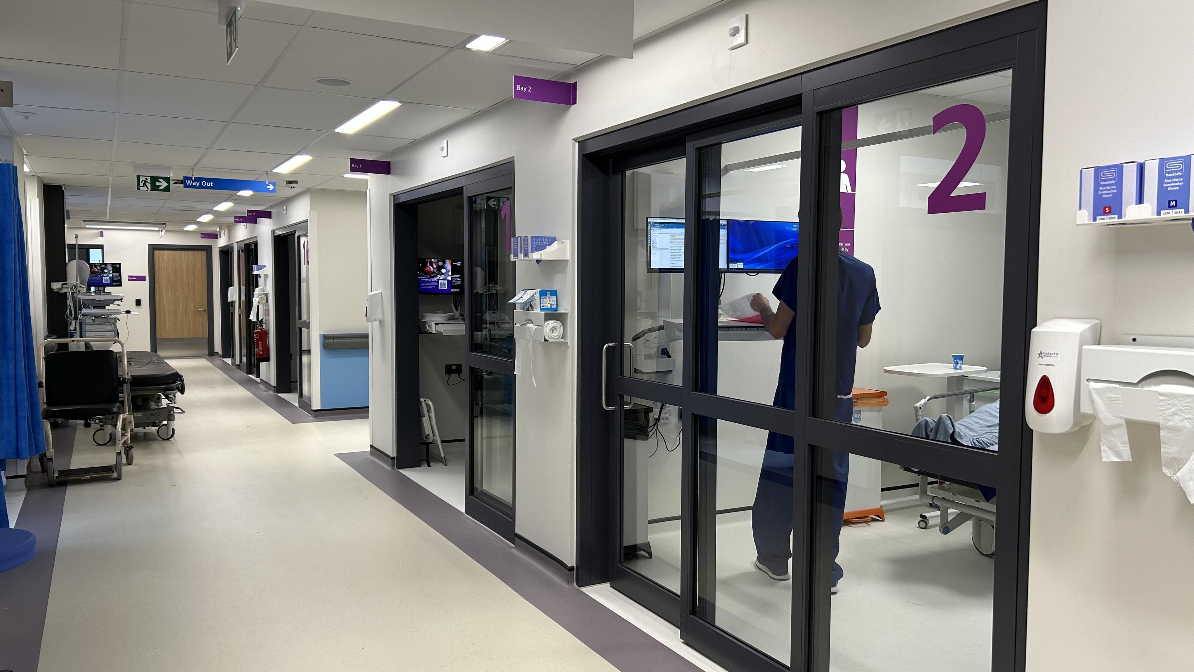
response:
[[[714,4],[634,0],[634,33]],[[35,173],[66,185],[72,218],[193,221],[230,196],[181,185],[139,193],[134,164],[168,165],[176,179],[279,183],[273,196],[233,197],[238,207],[215,213],[216,224],[301,189],[363,190],[364,181],[340,177],[349,157],[380,157],[500,103],[515,74],[550,78],[596,57],[517,41],[485,54],[463,48],[475,33],[248,0],[240,51],[224,65],[216,6],[4,0],[0,79],[14,83],[14,106],[0,110],[0,132],[17,135]],[[358,134],[332,132],[377,99],[402,106]],[[314,159],[269,172],[296,153]]]

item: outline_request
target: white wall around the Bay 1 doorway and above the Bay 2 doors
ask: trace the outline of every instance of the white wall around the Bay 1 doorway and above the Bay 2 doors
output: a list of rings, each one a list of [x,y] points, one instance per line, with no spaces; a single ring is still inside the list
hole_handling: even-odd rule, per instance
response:
[[[371,286],[393,293],[394,193],[513,158],[518,231],[574,239],[577,139],[1020,4],[727,2],[640,42],[634,59],[603,59],[572,73],[570,79],[578,81],[579,90],[574,108],[511,100],[394,152],[393,175],[369,181]],[[730,51],[725,26],[740,12],[751,14],[750,44]],[[441,158],[437,149],[443,139],[450,141],[448,158]],[[561,305],[581,310],[574,304],[574,263],[519,264],[518,286],[555,287]],[[386,301],[390,313],[392,299]],[[373,445],[393,453],[392,328],[380,323],[373,336]],[[517,390],[519,408],[535,413],[522,415],[518,422],[515,527],[570,564],[576,558],[573,380],[578,347],[599,344],[574,342],[568,348],[542,349],[535,361],[537,386],[521,377]]]

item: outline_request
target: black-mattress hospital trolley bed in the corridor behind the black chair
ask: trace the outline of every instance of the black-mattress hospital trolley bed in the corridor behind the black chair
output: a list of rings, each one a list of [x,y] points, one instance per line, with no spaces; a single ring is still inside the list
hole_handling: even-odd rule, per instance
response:
[[[128,353],[128,362],[133,429],[152,428],[162,441],[173,439],[174,415],[186,413],[177,405],[178,395],[186,393],[186,380],[158,353],[134,350]],[[112,434],[100,427],[92,440],[105,446]],[[133,464],[131,456],[128,463]]]

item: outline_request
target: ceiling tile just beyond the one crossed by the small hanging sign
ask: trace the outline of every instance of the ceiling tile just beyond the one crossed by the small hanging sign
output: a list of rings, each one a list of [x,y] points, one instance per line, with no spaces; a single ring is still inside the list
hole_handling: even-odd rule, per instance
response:
[[[245,84],[127,72],[121,86],[121,111],[227,121],[252,91]]]

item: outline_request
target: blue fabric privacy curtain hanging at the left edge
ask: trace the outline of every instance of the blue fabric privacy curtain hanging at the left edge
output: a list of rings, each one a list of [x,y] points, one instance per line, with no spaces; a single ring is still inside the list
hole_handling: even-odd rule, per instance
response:
[[[0,163],[0,460],[45,452],[36,356],[17,166]],[[0,527],[7,526],[0,485]]]

